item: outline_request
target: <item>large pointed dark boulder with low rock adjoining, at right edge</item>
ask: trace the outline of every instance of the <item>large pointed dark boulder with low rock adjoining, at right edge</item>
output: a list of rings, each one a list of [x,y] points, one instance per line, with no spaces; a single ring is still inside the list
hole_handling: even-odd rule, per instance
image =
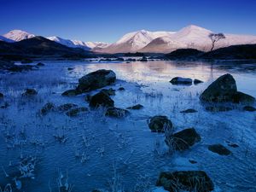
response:
[[[200,99],[204,102],[255,102],[253,96],[237,91],[236,80],[229,73],[220,76],[210,84],[207,89],[203,91]]]

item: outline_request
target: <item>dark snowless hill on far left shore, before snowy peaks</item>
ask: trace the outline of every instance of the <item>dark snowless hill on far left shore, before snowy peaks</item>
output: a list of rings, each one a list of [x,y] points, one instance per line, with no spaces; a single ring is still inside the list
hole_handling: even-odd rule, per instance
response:
[[[27,38],[15,43],[0,41],[0,55],[27,55],[27,56],[86,56],[89,51],[79,48],[70,48],[62,44],[55,43],[40,36]]]

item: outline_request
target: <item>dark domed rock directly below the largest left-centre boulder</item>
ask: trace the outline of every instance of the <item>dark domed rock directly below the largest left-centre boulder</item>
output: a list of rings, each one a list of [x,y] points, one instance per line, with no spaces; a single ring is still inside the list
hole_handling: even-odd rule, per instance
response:
[[[99,108],[99,107],[113,107],[113,100],[104,92],[99,92],[90,98],[90,107]]]

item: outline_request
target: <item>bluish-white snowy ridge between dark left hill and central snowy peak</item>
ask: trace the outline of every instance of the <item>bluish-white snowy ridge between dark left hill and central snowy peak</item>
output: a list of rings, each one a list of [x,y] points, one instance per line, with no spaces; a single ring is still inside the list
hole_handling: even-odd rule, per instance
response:
[[[55,41],[56,43],[66,45],[67,47],[81,48],[81,49],[85,49],[85,50],[94,49],[96,47],[104,48],[104,47],[108,46],[108,44],[104,43],[104,42],[83,42],[83,41],[79,41],[79,40],[69,40],[69,39],[65,39],[65,38],[59,38],[56,36],[49,37],[48,39],[51,41]]]

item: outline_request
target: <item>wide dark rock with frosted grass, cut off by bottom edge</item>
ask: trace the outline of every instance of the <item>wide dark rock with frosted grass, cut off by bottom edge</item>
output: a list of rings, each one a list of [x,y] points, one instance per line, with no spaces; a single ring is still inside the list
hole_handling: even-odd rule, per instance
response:
[[[211,178],[203,171],[161,172],[156,185],[171,192],[208,192],[214,189]]]

